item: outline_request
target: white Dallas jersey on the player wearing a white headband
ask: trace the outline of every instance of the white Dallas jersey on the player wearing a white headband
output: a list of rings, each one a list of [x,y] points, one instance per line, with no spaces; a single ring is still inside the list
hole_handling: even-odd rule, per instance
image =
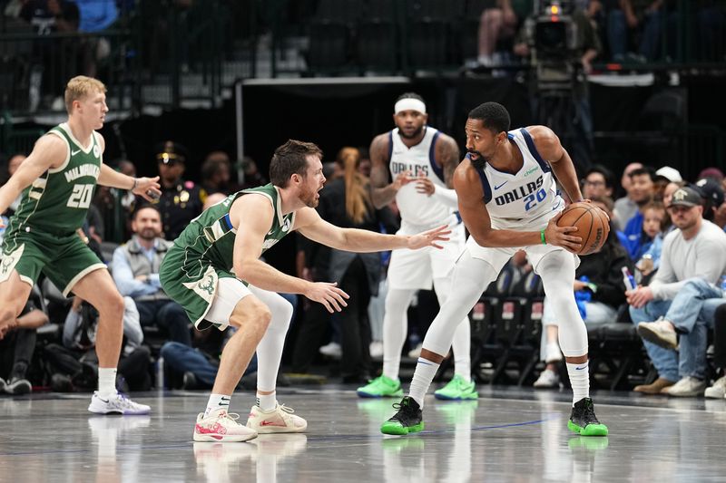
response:
[[[388,133],[388,169],[396,179],[398,174],[410,171],[413,177],[431,179],[437,188],[447,188],[444,182],[444,170],[435,160],[434,148],[438,139],[438,130],[427,126],[424,128],[424,139],[416,146],[408,148],[398,135],[398,128]],[[443,225],[451,217],[451,208],[446,207],[437,198],[418,193],[416,183],[408,183],[396,194],[396,203],[404,223],[411,225],[434,227]]]

